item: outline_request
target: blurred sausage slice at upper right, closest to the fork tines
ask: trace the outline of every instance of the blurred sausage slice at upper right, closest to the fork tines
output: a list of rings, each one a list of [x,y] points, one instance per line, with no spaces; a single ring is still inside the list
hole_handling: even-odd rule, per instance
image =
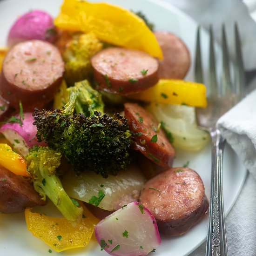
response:
[[[155,31],[163,59],[159,61],[159,78],[183,79],[190,66],[190,54],[185,43],[175,34]]]

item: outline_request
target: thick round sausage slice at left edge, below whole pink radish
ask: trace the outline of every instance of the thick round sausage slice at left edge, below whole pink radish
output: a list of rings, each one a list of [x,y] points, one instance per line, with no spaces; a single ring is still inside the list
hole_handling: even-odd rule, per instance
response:
[[[26,111],[40,108],[54,98],[64,72],[64,62],[54,45],[29,40],[16,44],[3,61],[0,91],[10,105],[22,102]]]

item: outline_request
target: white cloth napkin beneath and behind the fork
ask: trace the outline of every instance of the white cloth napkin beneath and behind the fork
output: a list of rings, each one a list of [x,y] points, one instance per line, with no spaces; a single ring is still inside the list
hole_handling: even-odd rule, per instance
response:
[[[240,28],[246,70],[256,69],[256,0],[166,0],[189,14],[206,29],[214,31],[226,26],[233,38],[236,21]],[[217,34],[217,40],[221,35]],[[233,40],[229,40],[232,43]],[[232,46],[231,46],[232,47]],[[218,121],[222,135],[248,168],[243,189],[226,219],[229,256],[256,256],[256,80],[248,86],[252,91]],[[203,243],[189,256],[204,256]]]

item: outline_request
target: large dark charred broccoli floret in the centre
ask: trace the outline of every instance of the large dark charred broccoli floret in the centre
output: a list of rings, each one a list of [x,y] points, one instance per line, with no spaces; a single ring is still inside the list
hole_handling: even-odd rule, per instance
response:
[[[80,90],[74,86],[68,92],[69,101],[63,109],[35,109],[38,141],[46,141],[49,147],[60,151],[78,171],[88,169],[103,177],[116,175],[131,162],[127,119],[119,114],[101,115],[94,108],[90,108],[94,114],[89,117],[84,113],[73,115]]]

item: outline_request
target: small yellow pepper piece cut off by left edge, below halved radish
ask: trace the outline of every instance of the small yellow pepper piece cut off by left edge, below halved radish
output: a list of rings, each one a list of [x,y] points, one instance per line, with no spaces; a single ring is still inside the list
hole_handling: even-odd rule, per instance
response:
[[[6,143],[0,143],[0,165],[16,175],[31,177],[25,159]]]

